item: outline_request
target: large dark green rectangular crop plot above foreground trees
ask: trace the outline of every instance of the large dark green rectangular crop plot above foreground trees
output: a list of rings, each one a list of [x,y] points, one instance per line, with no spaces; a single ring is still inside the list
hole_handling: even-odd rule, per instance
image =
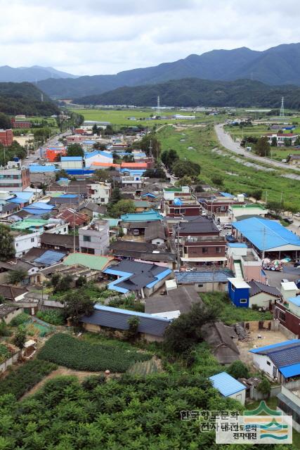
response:
[[[146,361],[151,355],[103,344],[90,344],[59,333],[46,342],[38,358],[79,371],[98,372],[108,369],[112,372],[126,372],[133,363]]]

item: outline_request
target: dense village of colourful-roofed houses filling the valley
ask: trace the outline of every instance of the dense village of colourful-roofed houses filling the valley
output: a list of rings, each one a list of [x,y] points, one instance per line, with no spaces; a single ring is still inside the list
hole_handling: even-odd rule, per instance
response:
[[[243,406],[276,401],[300,432],[299,228],[245,193],[185,186],[155,134],[126,131],[85,121],[0,170],[1,239],[13,245],[0,262],[4,380],[37,354],[93,372],[59,354],[70,345],[77,359],[71,336],[131,333],[147,349],[195,305],[218,307],[201,325],[218,368],[212,385]],[[136,364],[160,370],[155,357]],[[96,371],[123,370],[104,359]]]

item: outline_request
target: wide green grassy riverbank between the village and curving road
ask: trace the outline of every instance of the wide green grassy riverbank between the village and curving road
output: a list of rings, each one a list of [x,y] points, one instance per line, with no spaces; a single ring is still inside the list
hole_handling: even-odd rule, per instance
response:
[[[162,150],[173,148],[181,158],[200,164],[200,179],[205,183],[211,184],[211,177],[217,174],[223,178],[223,186],[219,187],[222,191],[247,193],[259,187],[263,191],[263,199],[268,191],[268,200],[274,201],[278,200],[283,192],[283,202],[296,205],[300,211],[300,191],[295,189],[295,181],[280,176],[280,173],[291,172],[285,172],[284,169],[262,172],[236,162],[233,160],[236,155],[228,150],[224,150],[223,155],[212,151],[214,148],[220,148],[212,125],[186,129],[184,142],[181,142],[182,131],[176,131],[174,127],[164,127],[158,134]],[[188,150],[188,147],[193,149]]]

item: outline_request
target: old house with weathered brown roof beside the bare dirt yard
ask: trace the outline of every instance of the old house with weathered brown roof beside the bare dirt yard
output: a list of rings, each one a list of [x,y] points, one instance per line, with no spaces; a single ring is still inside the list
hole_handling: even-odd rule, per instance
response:
[[[237,339],[235,330],[223,322],[205,323],[201,327],[204,340],[211,347],[211,351],[220,364],[227,365],[240,359],[240,352],[234,339]]]

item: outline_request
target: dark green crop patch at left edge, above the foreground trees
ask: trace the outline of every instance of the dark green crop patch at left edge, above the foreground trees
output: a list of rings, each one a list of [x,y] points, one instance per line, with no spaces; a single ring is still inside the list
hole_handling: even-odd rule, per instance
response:
[[[0,396],[3,394],[15,395],[17,399],[22,397],[25,392],[29,391],[44,378],[57,368],[56,364],[46,361],[28,361],[4,378],[0,383]]]

